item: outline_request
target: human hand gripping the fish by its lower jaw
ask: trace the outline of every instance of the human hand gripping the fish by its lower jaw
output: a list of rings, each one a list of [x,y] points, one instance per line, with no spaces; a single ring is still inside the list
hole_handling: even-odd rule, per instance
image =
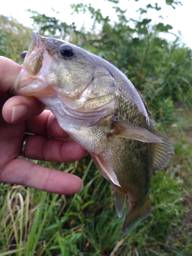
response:
[[[25,157],[54,162],[79,160],[87,151],[69,137],[55,116],[34,97],[8,95],[21,67],[0,56],[0,182],[16,183],[56,194],[74,194],[82,188],[79,177],[18,158],[25,133]],[[51,138],[50,138],[51,137]]]

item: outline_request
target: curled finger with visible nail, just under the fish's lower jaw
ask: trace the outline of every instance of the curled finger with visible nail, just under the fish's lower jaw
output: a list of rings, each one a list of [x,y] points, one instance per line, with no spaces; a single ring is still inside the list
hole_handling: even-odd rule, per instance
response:
[[[6,122],[17,123],[39,115],[45,105],[35,97],[14,96],[8,99],[2,109]]]

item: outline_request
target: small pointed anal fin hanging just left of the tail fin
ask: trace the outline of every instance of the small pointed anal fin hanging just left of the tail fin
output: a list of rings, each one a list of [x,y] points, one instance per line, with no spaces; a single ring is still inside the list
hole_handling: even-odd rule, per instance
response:
[[[121,218],[126,203],[126,194],[112,186],[117,215]]]

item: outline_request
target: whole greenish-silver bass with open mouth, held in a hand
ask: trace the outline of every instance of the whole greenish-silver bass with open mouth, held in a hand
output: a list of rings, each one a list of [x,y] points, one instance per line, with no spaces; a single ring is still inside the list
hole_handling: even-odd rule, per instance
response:
[[[33,31],[24,63],[9,92],[34,96],[87,150],[111,183],[122,231],[151,213],[153,171],[166,166],[174,148],[154,128],[143,95],[110,62],[67,41]]]

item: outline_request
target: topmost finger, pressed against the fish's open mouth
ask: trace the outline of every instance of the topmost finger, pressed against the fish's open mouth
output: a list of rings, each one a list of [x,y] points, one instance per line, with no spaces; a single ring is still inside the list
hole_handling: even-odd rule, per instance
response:
[[[0,88],[2,92],[7,92],[22,67],[13,60],[3,56],[0,56],[0,63]]]

